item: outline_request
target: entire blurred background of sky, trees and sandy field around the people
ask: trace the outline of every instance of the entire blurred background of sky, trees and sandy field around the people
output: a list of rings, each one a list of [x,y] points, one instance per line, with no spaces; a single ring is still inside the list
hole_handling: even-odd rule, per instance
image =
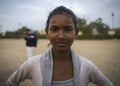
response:
[[[46,20],[60,5],[77,16],[79,34],[72,48],[120,86],[120,0],[0,0],[0,86],[28,59],[23,39],[28,29],[39,38],[34,55],[49,48]],[[20,86],[32,83],[28,80]]]

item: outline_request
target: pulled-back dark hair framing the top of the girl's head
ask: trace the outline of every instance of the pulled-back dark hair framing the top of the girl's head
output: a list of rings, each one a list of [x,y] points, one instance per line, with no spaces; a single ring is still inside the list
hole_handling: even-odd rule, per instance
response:
[[[76,28],[77,20],[76,20],[75,14],[73,13],[73,11],[71,11],[70,9],[68,9],[68,8],[66,8],[66,7],[64,7],[64,6],[59,6],[59,7],[55,8],[55,9],[49,14],[48,19],[47,19],[47,23],[46,23],[46,28],[45,28],[45,30],[48,29],[50,19],[51,19],[55,14],[67,14],[67,15],[69,15],[70,17],[72,17],[73,23],[75,24],[75,29],[77,30],[77,28]]]

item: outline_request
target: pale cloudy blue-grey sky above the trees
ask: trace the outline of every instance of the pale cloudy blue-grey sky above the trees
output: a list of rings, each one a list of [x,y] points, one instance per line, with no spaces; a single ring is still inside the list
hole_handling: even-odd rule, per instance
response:
[[[88,23],[102,18],[111,28],[120,27],[120,0],[0,0],[0,32],[22,26],[43,30],[49,13],[61,5]]]

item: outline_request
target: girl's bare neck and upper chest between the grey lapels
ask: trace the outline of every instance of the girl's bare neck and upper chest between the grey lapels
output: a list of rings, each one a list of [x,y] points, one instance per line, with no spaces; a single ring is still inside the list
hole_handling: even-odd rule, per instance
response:
[[[54,53],[53,81],[63,81],[73,78],[73,63],[69,53]]]

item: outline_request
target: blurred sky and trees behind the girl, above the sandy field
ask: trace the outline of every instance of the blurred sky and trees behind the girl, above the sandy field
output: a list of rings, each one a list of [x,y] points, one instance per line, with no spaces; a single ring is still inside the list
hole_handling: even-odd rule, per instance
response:
[[[0,38],[21,38],[31,29],[45,38],[49,12],[63,5],[78,18],[78,39],[119,39],[120,0],[0,0]]]

